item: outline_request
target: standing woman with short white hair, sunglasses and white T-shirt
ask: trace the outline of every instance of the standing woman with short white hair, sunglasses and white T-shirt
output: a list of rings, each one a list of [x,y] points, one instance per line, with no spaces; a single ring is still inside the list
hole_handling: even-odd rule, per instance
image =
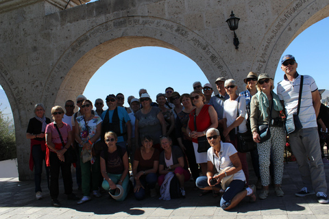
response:
[[[236,146],[238,145],[237,133],[244,133],[247,131],[245,121],[245,98],[236,94],[238,87],[233,79],[226,80],[224,87],[230,98],[224,102],[223,136],[225,142],[230,142],[236,149]],[[249,183],[249,170],[246,153],[240,153],[238,151],[238,155],[242,164],[242,170],[245,173],[246,182]]]

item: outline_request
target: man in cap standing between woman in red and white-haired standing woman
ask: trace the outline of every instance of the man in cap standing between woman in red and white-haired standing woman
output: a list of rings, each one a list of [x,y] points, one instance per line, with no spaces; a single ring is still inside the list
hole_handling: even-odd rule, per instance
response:
[[[209,105],[212,105],[216,112],[218,118],[218,127],[219,133],[221,133],[221,138],[223,138],[223,112],[224,112],[224,101],[230,98],[230,96],[226,93],[224,88],[224,82],[226,79],[224,77],[219,77],[216,79],[215,84],[218,90],[218,94],[212,96]]]

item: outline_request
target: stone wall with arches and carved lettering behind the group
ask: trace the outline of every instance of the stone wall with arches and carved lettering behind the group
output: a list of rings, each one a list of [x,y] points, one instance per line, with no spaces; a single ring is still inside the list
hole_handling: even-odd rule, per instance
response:
[[[33,179],[25,132],[34,104],[45,103],[49,112],[75,99],[115,55],[143,46],[173,49],[211,83],[230,77],[243,88],[250,70],[274,76],[289,43],[329,16],[328,0],[99,0],[62,10],[65,2],[0,0],[0,84],[14,114],[21,180]],[[226,23],[231,10],[241,18],[239,50]]]

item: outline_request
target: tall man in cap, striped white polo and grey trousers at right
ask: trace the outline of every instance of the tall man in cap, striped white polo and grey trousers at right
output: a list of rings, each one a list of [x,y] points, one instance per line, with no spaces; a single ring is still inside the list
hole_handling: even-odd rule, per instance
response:
[[[279,99],[284,104],[286,116],[297,114],[301,75],[297,73],[295,57],[284,55],[281,60],[281,69],[284,72],[284,79],[278,83]],[[315,80],[309,75],[304,75],[298,114],[302,129],[289,134],[291,149],[297,159],[304,183],[304,188],[295,195],[304,197],[316,192],[317,201],[326,204],[328,203],[326,174],[317,132],[320,105],[319,90]]]

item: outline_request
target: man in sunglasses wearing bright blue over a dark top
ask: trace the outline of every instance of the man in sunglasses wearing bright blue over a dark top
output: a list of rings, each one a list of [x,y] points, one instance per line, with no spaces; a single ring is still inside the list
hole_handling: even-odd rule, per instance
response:
[[[117,97],[114,94],[106,96],[108,110],[101,114],[101,139],[108,131],[114,131],[118,136],[117,144],[125,149],[131,146],[132,125],[127,110],[117,105]]]

